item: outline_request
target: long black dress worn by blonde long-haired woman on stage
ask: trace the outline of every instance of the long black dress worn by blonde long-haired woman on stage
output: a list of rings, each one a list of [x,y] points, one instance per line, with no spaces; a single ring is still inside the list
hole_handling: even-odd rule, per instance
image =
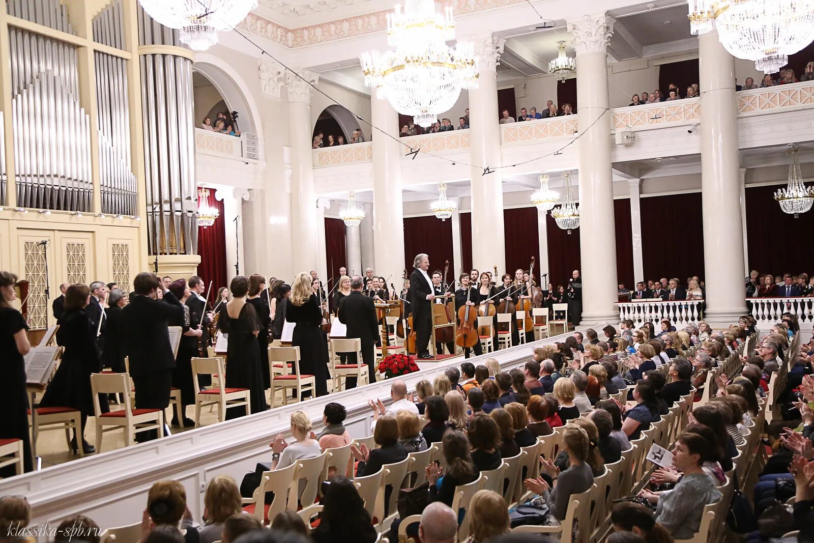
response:
[[[325,396],[328,393],[328,343],[320,328],[322,309],[317,296],[312,294],[300,307],[288,304],[286,320],[297,325],[291,345],[300,348],[300,374],[313,375],[317,396]]]

